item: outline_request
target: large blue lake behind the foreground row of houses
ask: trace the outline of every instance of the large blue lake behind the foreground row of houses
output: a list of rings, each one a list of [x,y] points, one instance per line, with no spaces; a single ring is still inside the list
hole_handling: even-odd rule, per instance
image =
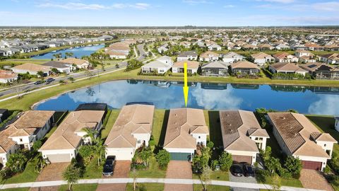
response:
[[[36,110],[75,110],[81,103],[151,102],[156,108],[184,107],[182,82],[109,81],[64,93],[35,105]],[[189,83],[187,107],[207,110],[295,109],[301,113],[339,115],[339,88],[235,83]]]

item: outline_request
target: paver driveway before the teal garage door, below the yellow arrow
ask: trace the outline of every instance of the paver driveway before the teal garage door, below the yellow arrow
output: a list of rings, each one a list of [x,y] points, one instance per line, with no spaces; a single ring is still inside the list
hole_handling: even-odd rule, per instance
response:
[[[187,161],[169,161],[166,178],[192,178],[191,163]],[[193,185],[165,184],[165,191],[193,191]]]

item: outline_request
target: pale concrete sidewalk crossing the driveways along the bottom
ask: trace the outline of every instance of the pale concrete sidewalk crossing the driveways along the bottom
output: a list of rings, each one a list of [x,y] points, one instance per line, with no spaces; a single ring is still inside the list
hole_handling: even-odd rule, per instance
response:
[[[119,184],[119,183],[133,183],[133,178],[99,178],[99,179],[88,179],[79,180],[78,184]],[[175,178],[138,178],[137,183],[165,183],[165,184],[201,184],[200,180],[194,179],[175,179]],[[66,185],[66,181],[44,181],[34,183],[18,183],[18,184],[6,184],[1,185],[0,190],[17,187],[47,187],[56,185]],[[243,188],[254,188],[254,189],[272,189],[270,185],[256,184],[256,183],[234,183],[230,181],[211,180],[209,185],[222,185],[230,187],[243,187]],[[286,191],[319,191],[300,187],[281,187],[280,190]]]

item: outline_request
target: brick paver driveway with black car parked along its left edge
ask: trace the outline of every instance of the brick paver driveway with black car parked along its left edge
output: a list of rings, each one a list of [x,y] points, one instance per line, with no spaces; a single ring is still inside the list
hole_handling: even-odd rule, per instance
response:
[[[114,173],[112,176],[103,178],[129,178],[129,170],[131,169],[131,161],[116,161]],[[100,184],[97,185],[97,191],[125,191],[126,184]]]

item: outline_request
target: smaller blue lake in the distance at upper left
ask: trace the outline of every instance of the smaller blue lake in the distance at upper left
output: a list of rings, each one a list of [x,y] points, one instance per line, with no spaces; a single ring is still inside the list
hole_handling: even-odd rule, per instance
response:
[[[88,45],[83,47],[72,47],[72,48],[66,48],[63,50],[56,50],[52,52],[47,52],[45,54],[39,54],[36,56],[31,57],[32,59],[52,59],[53,54],[62,54],[62,58],[65,57],[66,52],[72,52],[72,57],[77,57],[81,59],[83,56],[89,56],[93,52],[96,52],[97,50],[100,50],[101,48],[105,47],[105,45]]]

